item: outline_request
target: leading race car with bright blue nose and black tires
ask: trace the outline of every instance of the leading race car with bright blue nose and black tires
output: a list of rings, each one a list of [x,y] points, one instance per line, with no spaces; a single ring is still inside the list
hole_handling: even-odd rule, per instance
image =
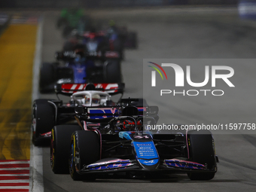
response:
[[[130,102],[118,117],[114,110],[108,108],[112,113],[99,118],[100,108],[96,113],[87,107],[76,108],[78,125],[53,127],[50,163],[54,173],[69,172],[74,180],[93,180],[113,172],[187,172],[191,180],[214,178],[218,157],[208,130],[152,133],[147,127],[157,123],[156,106],[140,113]]]

